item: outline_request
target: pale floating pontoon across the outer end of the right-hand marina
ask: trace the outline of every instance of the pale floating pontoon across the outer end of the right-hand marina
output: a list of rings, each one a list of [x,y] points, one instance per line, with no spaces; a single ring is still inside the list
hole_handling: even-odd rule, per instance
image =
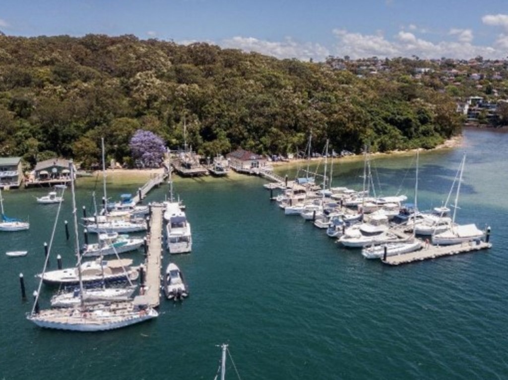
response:
[[[479,252],[491,247],[491,243],[483,240],[468,241],[467,243],[454,244],[450,246],[428,245],[420,251],[388,256],[386,258],[382,258],[381,261],[387,265],[408,264],[417,261],[435,259],[443,256],[452,256],[468,252]]]

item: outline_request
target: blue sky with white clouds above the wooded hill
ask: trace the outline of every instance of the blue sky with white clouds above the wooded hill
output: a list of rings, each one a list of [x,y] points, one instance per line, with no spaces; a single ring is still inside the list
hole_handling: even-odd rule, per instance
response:
[[[323,61],[508,57],[507,0],[4,0],[0,31],[206,42]],[[0,46],[1,48],[1,46]]]

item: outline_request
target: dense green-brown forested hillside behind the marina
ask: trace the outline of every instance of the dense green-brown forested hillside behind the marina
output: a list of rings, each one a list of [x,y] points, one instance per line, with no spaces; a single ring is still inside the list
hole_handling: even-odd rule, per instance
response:
[[[0,35],[0,156],[129,161],[138,129],[206,156],[431,148],[456,133],[446,93],[405,73],[360,78],[326,63],[134,36]]]

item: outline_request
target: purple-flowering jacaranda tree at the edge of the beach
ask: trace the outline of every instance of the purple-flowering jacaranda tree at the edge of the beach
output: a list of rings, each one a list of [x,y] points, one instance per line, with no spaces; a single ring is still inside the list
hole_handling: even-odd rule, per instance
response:
[[[159,167],[164,160],[166,147],[155,133],[138,129],[129,143],[136,166]]]

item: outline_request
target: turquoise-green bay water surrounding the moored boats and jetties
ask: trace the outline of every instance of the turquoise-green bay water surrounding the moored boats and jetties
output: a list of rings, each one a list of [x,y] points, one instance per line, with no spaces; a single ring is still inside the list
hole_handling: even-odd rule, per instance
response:
[[[177,180],[194,246],[174,260],[189,298],[162,300],[156,320],[98,334],[44,330],[24,319],[31,302],[21,300],[18,275],[30,295],[56,206],[35,203],[46,190],[5,192],[6,213],[29,217],[31,227],[0,234],[2,251],[29,251],[22,258],[0,254],[0,378],[212,379],[223,342],[243,379],[507,378],[508,133],[464,135],[464,147],[420,155],[418,203],[425,209],[446,199],[467,153],[457,221],[490,225],[491,250],[387,267],[339,248],[300,217],[284,216],[262,179]],[[412,154],[373,158],[376,191],[411,200],[414,165]],[[294,176],[285,170],[278,173]],[[333,171],[334,186],[361,188],[363,162]],[[137,187],[108,188],[108,195]],[[79,207],[90,209],[92,190],[78,183]],[[167,190],[147,200],[163,200]],[[72,220],[68,200],[52,255],[70,265],[62,222]],[[126,257],[140,262],[142,252]],[[44,288],[42,298],[50,294]],[[235,377],[228,358],[227,378]]]

